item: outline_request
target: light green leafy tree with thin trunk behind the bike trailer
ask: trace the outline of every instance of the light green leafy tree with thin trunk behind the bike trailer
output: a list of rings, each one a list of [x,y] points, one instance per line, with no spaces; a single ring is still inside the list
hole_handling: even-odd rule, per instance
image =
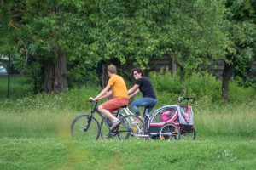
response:
[[[102,39],[96,43],[107,45],[104,59],[116,56],[122,63],[132,60],[133,65],[148,68],[150,58],[171,54],[184,82],[191,71],[224,52],[224,3],[114,1],[102,3],[100,11],[96,37]]]

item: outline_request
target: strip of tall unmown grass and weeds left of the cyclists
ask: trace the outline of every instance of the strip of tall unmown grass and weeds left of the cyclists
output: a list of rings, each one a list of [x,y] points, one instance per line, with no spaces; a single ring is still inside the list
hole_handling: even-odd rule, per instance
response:
[[[63,94],[38,94],[22,99],[2,99],[0,136],[70,137],[73,118],[92,107],[88,102],[101,88],[75,88]]]

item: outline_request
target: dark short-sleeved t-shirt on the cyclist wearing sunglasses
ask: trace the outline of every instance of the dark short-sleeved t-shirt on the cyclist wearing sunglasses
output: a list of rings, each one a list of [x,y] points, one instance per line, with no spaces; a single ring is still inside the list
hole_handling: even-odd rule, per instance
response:
[[[139,90],[143,93],[144,98],[156,99],[153,85],[147,77],[141,77],[137,79],[135,83],[139,85]]]

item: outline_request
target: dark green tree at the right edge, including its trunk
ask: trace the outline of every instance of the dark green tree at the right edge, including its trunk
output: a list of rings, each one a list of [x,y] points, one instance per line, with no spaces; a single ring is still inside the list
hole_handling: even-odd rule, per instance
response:
[[[226,18],[224,26],[230,43],[224,61],[222,82],[222,96],[224,101],[229,99],[229,82],[234,70],[238,70],[242,77],[246,75],[247,63],[255,59],[256,41],[256,1],[227,1]]]

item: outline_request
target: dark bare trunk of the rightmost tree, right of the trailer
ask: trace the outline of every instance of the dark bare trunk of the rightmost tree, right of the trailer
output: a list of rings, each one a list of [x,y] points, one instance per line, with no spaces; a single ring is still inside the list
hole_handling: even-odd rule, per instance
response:
[[[228,59],[231,57],[228,57]],[[233,65],[224,61],[224,71],[222,77],[222,99],[229,100],[229,83],[233,73]]]

